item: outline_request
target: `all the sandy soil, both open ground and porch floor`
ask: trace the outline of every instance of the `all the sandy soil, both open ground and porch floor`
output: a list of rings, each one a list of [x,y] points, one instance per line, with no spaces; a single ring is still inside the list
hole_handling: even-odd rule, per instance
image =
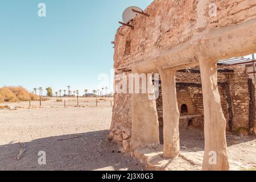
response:
[[[121,147],[109,142],[108,130],[112,119],[112,98],[56,98],[32,102],[3,103],[11,109],[0,109],[0,170],[144,170]],[[181,151],[192,153],[198,165],[189,162],[175,164],[175,169],[201,169],[204,134],[188,129],[180,132]],[[236,169],[256,167],[256,139],[227,134],[229,159]],[[19,160],[22,143],[24,152]],[[38,152],[46,152],[46,165],[38,164]],[[176,166],[177,165],[177,166]],[[174,168],[172,168],[174,169]]]

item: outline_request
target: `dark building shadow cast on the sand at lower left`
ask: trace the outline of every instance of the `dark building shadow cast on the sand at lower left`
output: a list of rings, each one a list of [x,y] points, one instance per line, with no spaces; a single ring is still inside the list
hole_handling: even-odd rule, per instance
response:
[[[25,143],[20,160],[15,159],[20,143],[0,146],[0,170],[142,170],[143,166],[137,160],[124,155],[117,144],[108,141],[108,132],[32,140]],[[39,151],[46,152],[46,165],[38,164]]]

